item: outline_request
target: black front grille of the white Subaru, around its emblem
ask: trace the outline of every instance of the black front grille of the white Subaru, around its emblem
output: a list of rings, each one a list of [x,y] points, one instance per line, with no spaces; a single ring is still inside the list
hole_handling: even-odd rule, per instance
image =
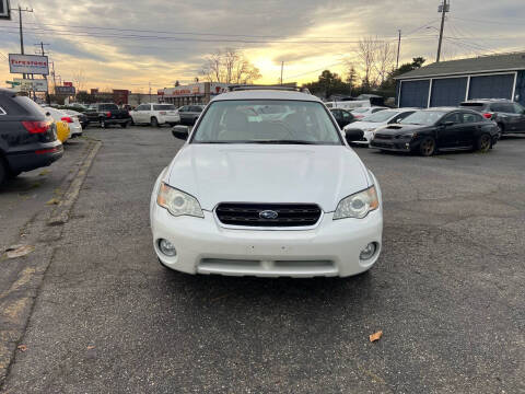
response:
[[[273,211],[277,218],[260,217],[264,211]],[[315,204],[222,202],[215,213],[221,223],[229,225],[308,227],[319,220],[320,208]]]

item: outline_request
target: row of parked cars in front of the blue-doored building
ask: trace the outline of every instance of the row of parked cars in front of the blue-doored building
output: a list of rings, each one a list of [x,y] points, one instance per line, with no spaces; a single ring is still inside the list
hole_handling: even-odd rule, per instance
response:
[[[352,111],[354,118],[358,109],[365,108]],[[487,151],[504,134],[525,132],[525,108],[509,100],[472,100],[458,107],[382,109],[355,120],[343,126],[347,136],[353,136],[352,143],[422,155],[452,149]]]

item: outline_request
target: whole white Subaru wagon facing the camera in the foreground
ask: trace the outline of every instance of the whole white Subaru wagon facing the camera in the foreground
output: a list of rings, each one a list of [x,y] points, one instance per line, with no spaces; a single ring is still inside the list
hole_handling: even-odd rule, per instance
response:
[[[156,179],[160,262],[188,274],[357,275],[382,247],[375,176],[315,96],[238,90],[213,99]]]

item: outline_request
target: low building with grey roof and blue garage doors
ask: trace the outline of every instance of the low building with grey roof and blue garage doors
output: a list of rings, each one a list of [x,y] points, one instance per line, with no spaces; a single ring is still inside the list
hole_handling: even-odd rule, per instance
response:
[[[442,61],[396,78],[400,107],[456,106],[470,99],[525,105],[525,53]]]

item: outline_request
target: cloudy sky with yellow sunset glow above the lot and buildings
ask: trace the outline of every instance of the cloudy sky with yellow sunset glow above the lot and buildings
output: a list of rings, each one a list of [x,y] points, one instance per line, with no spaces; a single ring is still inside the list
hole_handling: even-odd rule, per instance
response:
[[[524,0],[452,0],[443,58],[525,50]],[[324,69],[345,73],[359,59],[362,37],[397,47],[400,62],[435,59],[439,0],[22,0],[25,53],[50,44],[50,60],[65,81],[82,73],[83,88],[148,92],[199,77],[203,58],[237,48],[259,68],[259,83],[306,82]],[[11,7],[16,7],[11,0]],[[18,12],[0,20],[0,85],[12,79],[7,55],[20,53]],[[14,76],[15,78],[20,76]]]

